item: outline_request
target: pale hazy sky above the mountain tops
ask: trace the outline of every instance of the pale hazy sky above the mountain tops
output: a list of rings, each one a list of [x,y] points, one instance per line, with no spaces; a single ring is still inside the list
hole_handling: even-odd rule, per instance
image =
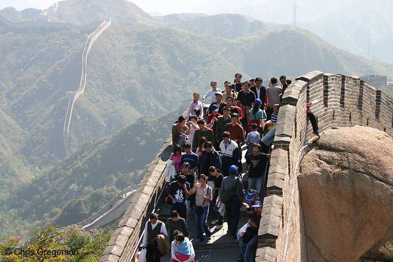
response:
[[[17,10],[33,7],[46,9],[54,0],[0,0],[0,9],[13,6]],[[238,13],[248,14],[263,22],[287,24],[293,21],[294,0],[132,0],[143,11],[152,15],[171,13]],[[296,0],[297,20],[311,21],[340,6],[356,0]],[[152,13],[154,12],[154,13]]]

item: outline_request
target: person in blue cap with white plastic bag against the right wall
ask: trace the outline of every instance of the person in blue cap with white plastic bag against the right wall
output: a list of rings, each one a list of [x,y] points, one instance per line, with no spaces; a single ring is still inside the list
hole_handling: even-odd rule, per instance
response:
[[[249,220],[248,224],[251,228],[251,230],[247,230],[252,232],[253,235],[249,238],[245,238],[245,235],[242,236],[242,240],[239,242],[239,248],[240,248],[240,253],[241,255],[236,258],[236,261],[244,261],[244,262],[251,262],[252,256],[253,256],[253,246],[256,244],[256,241],[258,240],[258,229],[259,229],[259,222],[261,220],[261,213],[262,213],[262,206],[263,204],[259,201],[256,201],[253,204],[253,208],[256,212],[255,216],[255,221]]]

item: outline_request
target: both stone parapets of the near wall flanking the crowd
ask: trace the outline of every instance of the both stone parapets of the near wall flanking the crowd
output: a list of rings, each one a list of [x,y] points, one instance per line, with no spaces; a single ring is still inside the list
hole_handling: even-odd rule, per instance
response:
[[[256,262],[302,261],[300,247],[304,231],[293,174],[298,157],[305,153],[313,137],[306,116],[306,101],[314,99],[320,101],[312,107],[320,132],[330,127],[364,125],[393,136],[393,100],[359,77],[320,71],[298,77],[282,98],[267,197],[258,232]],[[171,153],[170,145],[171,137],[143,176],[100,262],[135,261],[142,226],[165,185],[164,171]]]

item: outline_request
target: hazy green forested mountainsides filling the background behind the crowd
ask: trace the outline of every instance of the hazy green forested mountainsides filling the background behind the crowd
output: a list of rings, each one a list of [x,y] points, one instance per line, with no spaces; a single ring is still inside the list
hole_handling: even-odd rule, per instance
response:
[[[38,11],[0,14],[28,20]],[[391,64],[342,51],[307,30],[268,30],[237,14],[154,18],[126,0],[67,0],[52,16],[78,25],[107,18],[112,25],[87,57],[69,156],[68,92],[79,87],[88,34],[0,24],[0,236],[78,222],[138,183],[184,111],[179,105],[213,80],[223,87],[236,72],[248,80],[312,70],[393,79]]]

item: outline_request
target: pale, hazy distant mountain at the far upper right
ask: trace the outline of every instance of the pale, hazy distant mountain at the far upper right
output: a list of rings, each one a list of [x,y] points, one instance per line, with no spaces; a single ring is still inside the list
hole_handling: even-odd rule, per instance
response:
[[[326,14],[300,27],[315,32],[325,41],[343,50],[368,56],[376,61],[393,62],[393,21],[387,10],[393,10],[390,0],[362,0],[341,7],[350,12]]]

